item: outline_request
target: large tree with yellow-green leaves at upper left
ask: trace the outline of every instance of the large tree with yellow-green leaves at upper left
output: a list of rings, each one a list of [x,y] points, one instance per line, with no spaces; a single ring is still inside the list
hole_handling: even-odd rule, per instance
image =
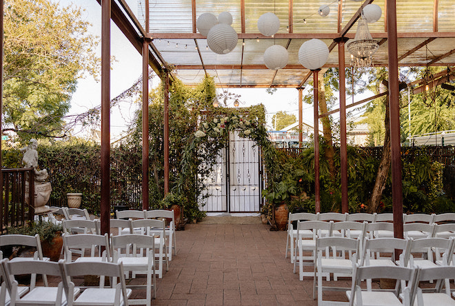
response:
[[[50,0],[5,1],[3,130],[23,139],[65,134],[77,79],[96,77],[99,63],[81,13]]]

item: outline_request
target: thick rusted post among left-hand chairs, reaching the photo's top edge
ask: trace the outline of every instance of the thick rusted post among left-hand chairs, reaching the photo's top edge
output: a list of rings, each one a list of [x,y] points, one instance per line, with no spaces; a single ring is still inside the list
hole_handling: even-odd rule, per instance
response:
[[[110,8],[101,1],[101,233],[109,234],[110,218]]]

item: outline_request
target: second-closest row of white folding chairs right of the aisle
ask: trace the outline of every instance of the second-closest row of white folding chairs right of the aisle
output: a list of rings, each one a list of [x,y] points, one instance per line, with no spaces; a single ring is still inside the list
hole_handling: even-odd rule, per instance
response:
[[[363,252],[359,252],[360,241],[358,239],[347,238],[347,237],[323,237],[318,238],[316,236],[315,245],[314,245],[314,274],[313,276],[313,297],[316,297],[316,288],[318,296],[318,305],[324,305],[327,301],[323,300],[323,289],[330,290],[339,290],[347,288],[339,287],[323,287],[323,276],[330,276],[334,274],[334,280],[336,281],[335,276],[345,276],[352,277],[353,267],[358,266],[373,266],[373,267],[396,267],[401,265],[401,267],[418,267],[419,269],[429,269],[438,267],[438,263],[430,261],[429,259],[422,258],[421,260],[414,260],[416,255],[414,252],[423,252],[427,248],[439,248],[445,250],[445,255],[443,256],[443,261],[439,263],[444,267],[448,266],[448,259],[451,256],[448,254],[453,253],[454,249],[454,238],[445,239],[445,238],[423,238],[414,241],[413,239],[405,240],[398,238],[374,238],[366,239],[363,247]],[[299,245],[300,247],[300,245]],[[399,249],[403,252],[400,256],[399,261],[395,261],[394,252],[396,249]],[[330,256],[330,250],[332,251],[332,256]],[[344,257],[338,255],[339,252],[346,254]],[[374,258],[375,252],[388,252],[390,253],[389,258]],[[426,251],[424,251],[426,252]],[[325,253],[325,254],[324,254]],[[349,254],[349,255],[347,255]],[[301,252],[299,252],[301,255]],[[301,256],[298,257],[299,264],[301,263]],[[301,265],[299,265],[299,274],[301,274]],[[294,264],[295,272],[295,264]],[[302,275],[302,274],[301,274]],[[449,288],[448,278],[455,278],[455,274],[449,274],[445,276],[447,278],[445,285]],[[303,278],[301,278],[303,279]],[[365,279],[365,278],[362,278]],[[367,289],[372,290],[372,282],[370,278],[367,279]],[[437,279],[429,278],[427,281]],[[317,285],[316,285],[317,283]],[[437,284],[436,284],[437,285]],[[403,286],[405,287],[405,286]],[[330,304],[330,303],[329,303]],[[382,305],[382,304],[381,304]],[[388,305],[387,303],[383,305]]]

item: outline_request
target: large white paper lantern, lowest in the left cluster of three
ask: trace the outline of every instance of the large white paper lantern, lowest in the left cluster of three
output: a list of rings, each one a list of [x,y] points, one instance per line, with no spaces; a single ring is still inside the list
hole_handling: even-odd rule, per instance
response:
[[[226,54],[234,50],[237,39],[237,32],[234,28],[225,23],[219,23],[212,27],[207,34],[208,46],[217,54]]]

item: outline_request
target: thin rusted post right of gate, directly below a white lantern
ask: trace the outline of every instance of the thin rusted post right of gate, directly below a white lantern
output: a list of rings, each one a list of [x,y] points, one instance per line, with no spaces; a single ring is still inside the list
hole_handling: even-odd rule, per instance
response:
[[[321,195],[319,185],[319,94],[318,94],[318,73],[321,69],[313,72],[313,94],[314,94],[314,209],[321,212]]]

